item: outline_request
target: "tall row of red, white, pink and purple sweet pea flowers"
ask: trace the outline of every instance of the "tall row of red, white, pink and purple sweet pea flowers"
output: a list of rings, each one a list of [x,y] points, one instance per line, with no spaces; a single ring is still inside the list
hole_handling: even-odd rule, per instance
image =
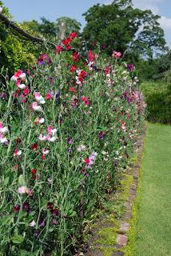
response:
[[[74,254],[133,150],[144,110],[137,78],[118,55],[106,61],[89,51],[85,61],[66,51],[76,37],[2,87],[3,255]]]

